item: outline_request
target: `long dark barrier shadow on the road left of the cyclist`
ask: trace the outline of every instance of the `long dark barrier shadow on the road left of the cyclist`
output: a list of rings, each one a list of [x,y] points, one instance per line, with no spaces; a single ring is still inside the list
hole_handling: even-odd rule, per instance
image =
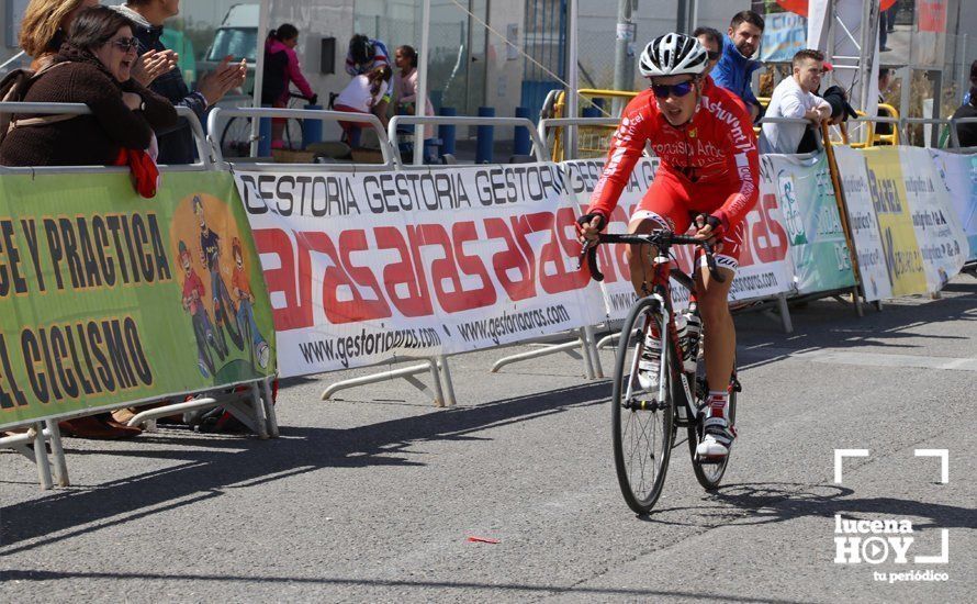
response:
[[[2,507],[0,553],[9,556],[220,497],[226,489],[254,486],[324,468],[424,466],[417,459],[422,452],[411,450],[415,445],[488,439],[491,436],[476,433],[603,404],[606,400],[606,383],[588,383],[350,429],[282,426],[281,437],[274,440],[186,435],[186,439],[166,440],[171,445],[169,450],[145,451],[139,450],[136,439],[120,444],[119,448],[99,449],[97,454],[175,458],[186,463],[97,486],[68,488]],[[206,449],[187,449],[188,440]],[[69,456],[82,452],[74,450],[77,446],[68,449]],[[31,543],[23,543],[27,540]]]

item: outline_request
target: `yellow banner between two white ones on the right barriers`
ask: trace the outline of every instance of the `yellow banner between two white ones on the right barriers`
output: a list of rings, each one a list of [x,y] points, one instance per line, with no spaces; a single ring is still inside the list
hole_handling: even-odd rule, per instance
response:
[[[927,292],[927,275],[906,197],[898,147],[864,149],[868,191],[878,216],[892,295]]]

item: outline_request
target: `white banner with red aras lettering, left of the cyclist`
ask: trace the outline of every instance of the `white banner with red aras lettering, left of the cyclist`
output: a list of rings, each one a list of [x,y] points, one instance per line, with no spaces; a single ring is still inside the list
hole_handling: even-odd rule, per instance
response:
[[[236,171],[282,377],[453,354],[604,320],[552,164]]]

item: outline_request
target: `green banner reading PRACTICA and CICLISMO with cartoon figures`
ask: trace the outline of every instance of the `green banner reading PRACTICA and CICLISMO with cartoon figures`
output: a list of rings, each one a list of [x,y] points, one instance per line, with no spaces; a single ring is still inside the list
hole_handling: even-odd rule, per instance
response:
[[[229,174],[0,177],[0,427],[274,374]]]

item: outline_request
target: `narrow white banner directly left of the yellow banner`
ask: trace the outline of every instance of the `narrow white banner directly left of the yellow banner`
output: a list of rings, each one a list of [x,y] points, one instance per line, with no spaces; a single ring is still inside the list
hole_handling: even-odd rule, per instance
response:
[[[865,156],[845,145],[833,147],[841,187],[844,190],[849,225],[855,241],[858,273],[865,300],[868,302],[892,297],[892,283],[886,268],[878,217],[872,201]]]

